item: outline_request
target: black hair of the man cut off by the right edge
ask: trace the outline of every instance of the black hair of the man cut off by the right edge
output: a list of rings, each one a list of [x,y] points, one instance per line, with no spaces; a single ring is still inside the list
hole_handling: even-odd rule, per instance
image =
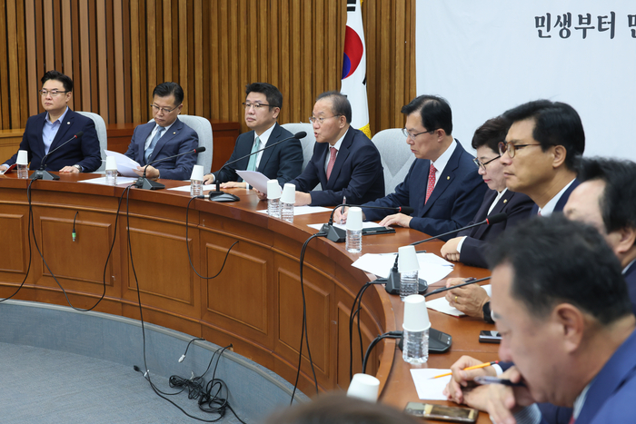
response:
[[[608,158],[581,159],[581,182],[601,180],[605,189],[599,199],[605,232],[636,229],[636,163]]]

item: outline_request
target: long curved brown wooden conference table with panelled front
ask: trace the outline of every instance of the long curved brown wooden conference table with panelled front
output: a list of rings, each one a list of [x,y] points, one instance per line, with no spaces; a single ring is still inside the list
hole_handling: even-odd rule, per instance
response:
[[[125,186],[109,187],[81,182],[95,175],[61,175],[60,181],[36,181],[31,187],[35,240],[57,281],[75,307],[94,305],[96,311],[139,319],[134,274],[141,291],[144,320],[234,350],[293,383],[298,364],[303,304],[300,287],[300,251],[315,231],[306,224],[326,222],[328,213],[296,216],[294,223],[270,219],[264,202],[243,189],[232,192],[241,202],[194,200],[190,204],[188,238],[185,239],[189,193],[170,190],[128,192],[115,216]],[[162,181],[167,188],[184,182]],[[7,248],[0,256],[0,296],[6,297],[23,281],[28,265],[28,180],[15,173],[0,177],[0,234]],[[71,232],[76,214],[77,239]],[[130,225],[132,259],[126,239]],[[409,229],[395,234],[365,236],[363,253],[397,251],[399,246],[422,240]],[[114,240],[115,239],[115,240]],[[218,278],[197,276],[188,261],[186,243],[196,270]],[[442,242],[425,244],[439,253]],[[424,245],[421,246],[424,248]],[[32,243],[33,261],[25,287],[15,299],[65,305],[65,297]],[[351,266],[360,255],[344,250],[344,243],[324,238],[312,240],[305,254],[303,281],[313,364],[320,389],[346,389],[349,383],[348,322],[353,298],[374,277]],[[133,267],[134,265],[134,267]],[[457,264],[451,276],[482,277],[488,271]],[[439,287],[442,282],[434,284]],[[433,288],[434,288],[433,287]],[[382,286],[372,286],[363,298],[363,344],[385,331],[402,330],[402,301]],[[432,326],[452,335],[452,350],[431,355],[424,367],[448,368],[462,354],[482,360],[497,356],[497,345],[478,342],[479,330],[492,326],[481,320],[455,318],[430,311]],[[360,349],[353,343],[353,370],[362,369]],[[380,343],[367,372],[383,385],[382,400],[403,408],[416,401],[411,365],[402,361],[394,340]],[[311,395],[313,375],[306,346],[299,388]],[[479,422],[490,422],[482,414]]]

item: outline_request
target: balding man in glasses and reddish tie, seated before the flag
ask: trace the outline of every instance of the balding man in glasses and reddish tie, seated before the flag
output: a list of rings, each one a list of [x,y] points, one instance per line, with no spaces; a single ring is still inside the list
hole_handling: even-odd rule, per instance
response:
[[[313,105],[313,156],[303,173],[290,183],[296,186],[296,205],[360,204],[384,194],[380,153],[360,130],[351,127],[352,110],[338,92],[320,94]],[[323,190],[313,190],[318,183]]]

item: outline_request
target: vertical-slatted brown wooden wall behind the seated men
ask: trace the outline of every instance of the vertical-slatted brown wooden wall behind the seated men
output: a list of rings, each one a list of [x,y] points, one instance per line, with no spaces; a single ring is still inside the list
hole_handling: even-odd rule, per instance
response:
[[[372,133],[402,127],[415,94],[415,1],[363,2]],[[307,122],[316,95],[340,89],[345,0],[0,0],[0,20],[0,129],[42,112],[54,68],[74,79],[72,107],[106,123],[150,119],[163,81],[184,87],[184,113],[243,131],[246,84],[281,89],[281,123]]]

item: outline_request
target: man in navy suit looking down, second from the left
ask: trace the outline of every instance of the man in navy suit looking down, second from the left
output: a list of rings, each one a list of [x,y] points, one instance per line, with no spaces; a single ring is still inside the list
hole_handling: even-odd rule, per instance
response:
[[[175,154],[194,151],[199,146],[196,132],[178,119],[184,107],[184,89],[176,83],[162,83],[154,87],[153,108],[154,122],[138,125],[134,129],[126,156],[141,166],[134,171],[147,178],[164,178],[167,180],[189,180],[192,175],[196,154],[184,154],[154,166],[149,165],[156,160],[168,158]]]

